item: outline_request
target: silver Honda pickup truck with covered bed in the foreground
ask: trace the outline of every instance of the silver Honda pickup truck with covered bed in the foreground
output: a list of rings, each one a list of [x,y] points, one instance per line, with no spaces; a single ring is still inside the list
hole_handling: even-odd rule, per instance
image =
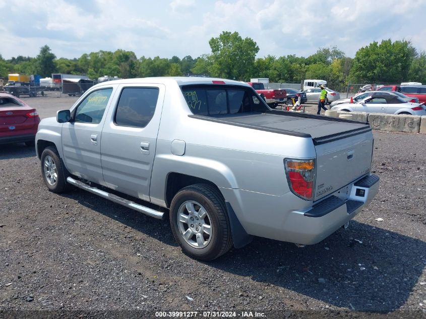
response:
[[[36,135],[48,189],[71,185],[154,218],[213,260],[253,236],[315,244],[369,204],[368,123],[270,109],[212,78],[104,82]]]

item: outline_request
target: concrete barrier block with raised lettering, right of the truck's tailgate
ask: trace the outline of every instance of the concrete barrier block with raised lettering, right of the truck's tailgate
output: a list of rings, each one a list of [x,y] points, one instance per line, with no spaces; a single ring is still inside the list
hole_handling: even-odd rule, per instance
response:
[[[420,131],[420,116],[370,113],[368,118],[373,130],[405,133]]]

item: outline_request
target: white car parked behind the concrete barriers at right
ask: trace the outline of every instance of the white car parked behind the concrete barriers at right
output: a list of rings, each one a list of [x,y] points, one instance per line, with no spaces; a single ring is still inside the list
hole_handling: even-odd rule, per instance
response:
[[[407,102],[404,98],[389,92],[375,92],[357,103],[342,103],[331,109],[346,112],[426,115],[426,107],[423,104]]]

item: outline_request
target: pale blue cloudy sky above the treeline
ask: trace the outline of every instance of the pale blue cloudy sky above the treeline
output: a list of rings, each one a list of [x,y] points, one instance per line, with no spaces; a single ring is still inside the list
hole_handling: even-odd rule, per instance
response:
[[[426,0],[0,0],[0,11],[4,58],[36,56],[45,44],[67,58],[116,49],[195,58],[222,31],[252,38],[259,57],[309,56],[325,46],[353,57],[388,38],[426,50]]]

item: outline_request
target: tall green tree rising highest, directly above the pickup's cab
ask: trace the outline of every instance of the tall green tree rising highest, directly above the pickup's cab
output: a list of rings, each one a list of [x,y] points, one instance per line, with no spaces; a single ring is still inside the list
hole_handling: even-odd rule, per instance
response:
[[[223,31],[209,41],[212,50],[210,74],[215,77],[249,80],[255,67],[259,47],[251,38],[241,38],[238,32]]]

